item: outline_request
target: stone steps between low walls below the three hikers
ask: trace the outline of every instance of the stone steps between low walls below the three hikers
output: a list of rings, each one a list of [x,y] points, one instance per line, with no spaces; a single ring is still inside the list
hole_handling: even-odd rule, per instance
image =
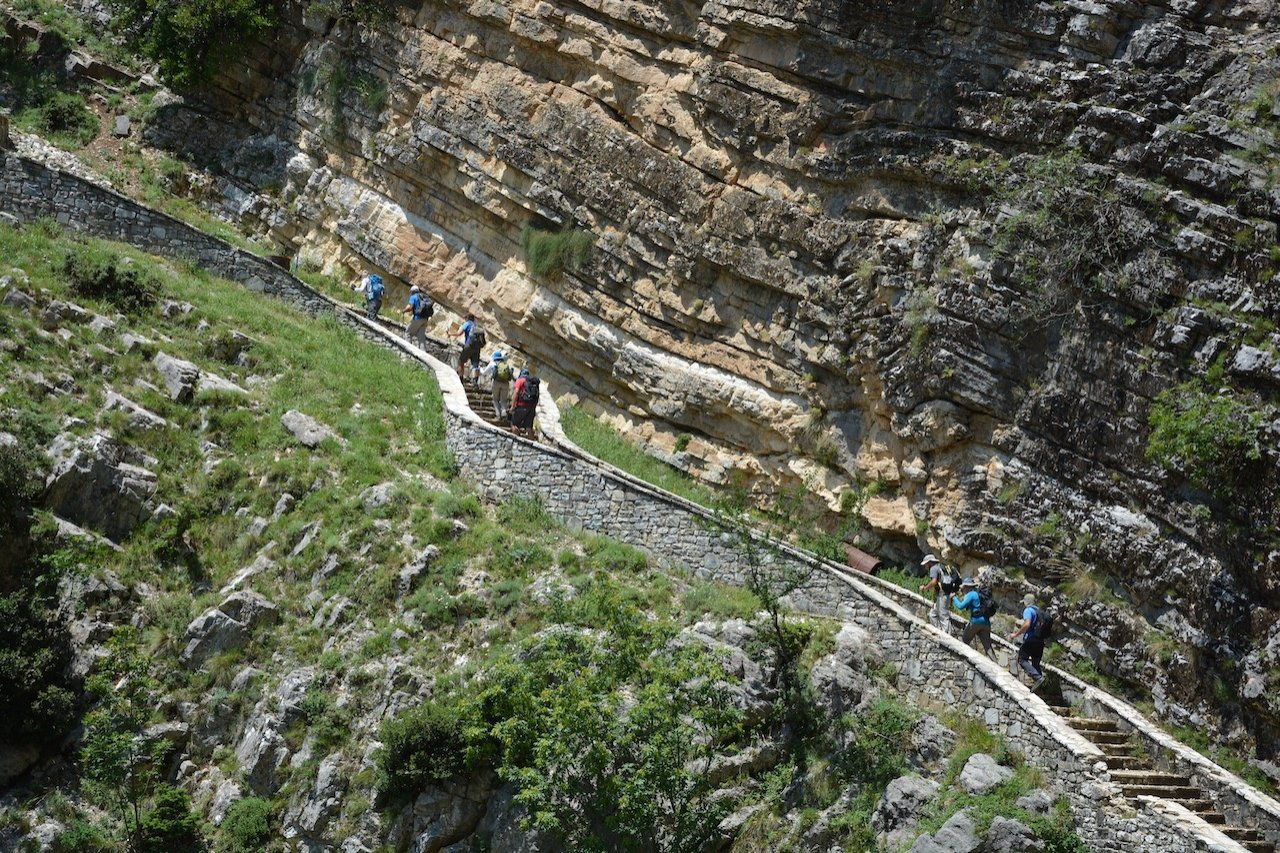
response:
[[[1106,754],[1111,781],[1120,785],[1126,798],[1147,795],[1172,800],[1251,853],[1276,853],[1275,844],[1267,841],[1260,830],[1228,826],[1226,817],[1203,790],[1192,784],[1189,776],[1156,770],[1151,758],[1137,752],[1129,734],[1121,731],[1114,720],[1075,716],[1075,710],[1066,706],[1051,704],[1050,708]]]

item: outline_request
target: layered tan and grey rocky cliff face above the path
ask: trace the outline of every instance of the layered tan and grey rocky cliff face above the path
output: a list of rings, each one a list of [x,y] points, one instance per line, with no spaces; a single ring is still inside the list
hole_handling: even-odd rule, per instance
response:
[[[1268,0],[433,1],[300,14],[150,132],[695,474],[833,511],[878,482],[870,546],[1073,592],[1080,651],[1265,758],[1277,24]],[[529,225],[591,260],[534,275]],[[1160,392],[1215,362],[1258,446],[1230,489],[1146,453]]]

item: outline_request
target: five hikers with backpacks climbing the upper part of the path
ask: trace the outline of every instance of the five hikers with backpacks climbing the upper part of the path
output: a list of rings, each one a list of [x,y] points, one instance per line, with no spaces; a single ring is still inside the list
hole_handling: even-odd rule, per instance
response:
[[[353,291],[365,296],[365,315],[376,321],[383,309],[383,296],[387,292],[383,277],[376,273],[364,275]],[[408,301],[399,311],[410,315],[404,337],[410,343],[426,348],[426,323],[435,314],[435,302],[417,284],[408,288]],[[485,330],[476,323],[474,314],[467,314],[462,324],[451,330],[449,337],[462,338],[462,351],[458,353],[458,379],[475,388],[481,387],[481,378],[489,384],[493,394],[493,409],[498,420],[508,424],[511,432],[526,438],[534,438],[534,416],[538,411],[540,380],[529,369],[516,370],[509,356],[502,350],[494,350],[489,356],[489,368],[481,374],[480,353],[488,343]]]

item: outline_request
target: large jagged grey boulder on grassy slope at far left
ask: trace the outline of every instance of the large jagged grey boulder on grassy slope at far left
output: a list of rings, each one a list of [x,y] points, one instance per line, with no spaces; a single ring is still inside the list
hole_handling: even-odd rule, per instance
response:
[[[137,453],[102,433],[87,439],[63,434],[49,450],[52,471],[44,503],[60,517],[120,542],[151,516],[156,475],[127,459]],[[154,460],[148,460],[154,464]]]

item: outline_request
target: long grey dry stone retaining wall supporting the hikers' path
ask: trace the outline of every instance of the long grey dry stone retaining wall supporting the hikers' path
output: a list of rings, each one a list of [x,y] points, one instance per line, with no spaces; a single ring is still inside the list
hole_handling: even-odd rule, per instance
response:
[[[17,155],[4,156],[0,200],[3,210],[19,222],[51,218],[72,231],[188,259],[310,314],[339,307],[265,259],[110,190]],[[538,494],[547,510],[566,524],[627,542],[653,555],[659,565],[681,566],[733,584],[744,581],[740,534],[705,510],[595,460],[485,424],[467,406],[457,374],[445,364],[351,313],[339,310],[338,316],[362,337],[434,370],[444,398],[448,446],[463,475],[485,497]],[[444,355],[444,345],[431,346]],[[543,394],[540,420],[562,438],[549,397]],[[1137,815],[1123,817],[1117,790],[1107,781],[1105,767],[1097,766],[1102,758],[1097,747],[1032,698],[1009,672],[833,565],[782,544],[767,548],[765,555],[814,569],[810,583],[792,596],[794,606],[856,622],[869,631],[884,658],[897,666],[899,689],[908,697],[982,720],[1043,767],[1071,800],[1076,829],[1093,849],[1243,850],[1185,809],[1165,808],[1165,803],[1146,803]],[[1253,818],[1248,822],[1272,829],[1260,809],[1245,807],[1242,812]]]

